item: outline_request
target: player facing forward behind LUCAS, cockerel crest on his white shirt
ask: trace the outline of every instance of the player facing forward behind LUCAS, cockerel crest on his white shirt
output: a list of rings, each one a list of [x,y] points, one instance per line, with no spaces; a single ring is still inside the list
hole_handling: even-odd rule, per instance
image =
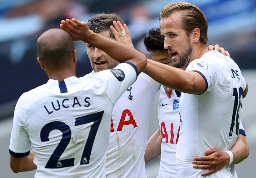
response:
[[[113,21],[123,23],[122,19],[116,14],[96,14],[88,20],[87,24],[93,32],[115,41],[110,29]],[[80,33],[71,34],[73,39],[81,39],[81,37],[77,38],[77,35],[80,36]],[[93,69],[92,73],[111,69],[119,64],[90,42],[87,43],[86,50]],[[115,50],[122,52],[119,48]],[[122,54],[120,57],[122,57]],[[115,103],[106,154],[105,171],[107,177],[118,177],[120,175],[131,178],[147,176],[144,153],[148,121],[151,105],[159,87],[158,82],[145,73],[141,73]]]

